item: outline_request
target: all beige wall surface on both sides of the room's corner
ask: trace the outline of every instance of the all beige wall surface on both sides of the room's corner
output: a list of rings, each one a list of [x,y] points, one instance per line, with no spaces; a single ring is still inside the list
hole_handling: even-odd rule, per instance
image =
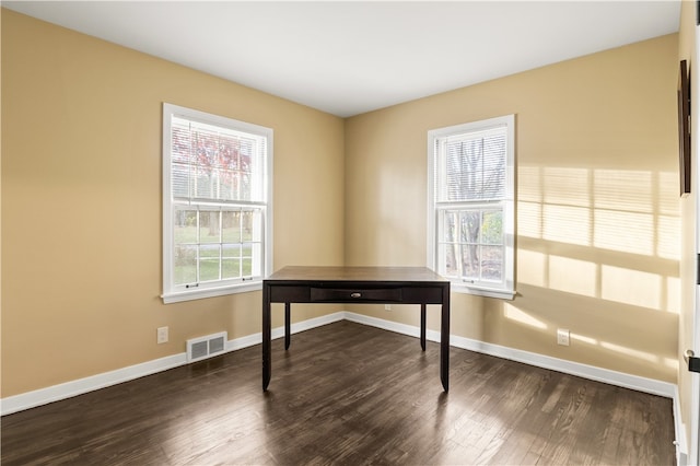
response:
[[[276,269],[424,265],[427,131],[516,114],[518,295],[453,295],[453,333],[675,382],[677,42],[342,120],[2,10],[2,396],[259,331],[259,292],[159,299],[162,102],[275,129]]]

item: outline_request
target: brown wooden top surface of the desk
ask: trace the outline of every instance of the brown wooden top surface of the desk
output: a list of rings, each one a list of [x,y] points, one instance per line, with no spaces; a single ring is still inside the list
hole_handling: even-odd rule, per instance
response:
[[[448,282],[428,267],[288,266],[266,281]]]

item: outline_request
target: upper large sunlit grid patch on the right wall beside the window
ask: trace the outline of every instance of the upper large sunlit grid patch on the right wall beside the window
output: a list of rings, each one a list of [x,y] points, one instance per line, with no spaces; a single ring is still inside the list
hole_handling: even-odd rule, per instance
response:
[[[518,168],[518,235],[679,258],[674,173]]]

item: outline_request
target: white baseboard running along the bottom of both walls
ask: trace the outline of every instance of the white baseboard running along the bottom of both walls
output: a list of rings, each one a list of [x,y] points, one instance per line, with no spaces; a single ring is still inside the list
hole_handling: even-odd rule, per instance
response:
[[[362,314],[355,314],[351,312],[337,312],[334,314],[325,315],[322,317],[311,318],[307,321],[292,324],[291,330],[293,334],[299,331],[308,330],[311,328],[319,327],[322,325],[331,324],[338,321],[351,321],[360,324],[370,325],[373,327],[383,328],[386,330],[395,331],[402,335],[409,335],[412,337],[420,336],[420,328],[406,324],[398,324],[376,317],[370,317]],[[272,329],[272,339],[284,336],[284,328],[277,327]],[[440,341],[440,331],[428,330],[425,338],[431,341]],[[254,345],[259,345],[262,341],[262,334],[253,334],[241,338],[235,338],[226,342],[226,351],[235,351],[238,349],[247,348]],[[563,372],[572,375],[579,375],[581,377],[591,378],[594,381],[605,382],[612,385],[622,386],[626,388],[632,388],[640,392],[651,393],[654,395],[661,395],[674,399],[674,404],[677,401],[677,388],[676,385],[660,382],[652,378],[640,377],[637,375],[625,374],[621,372],[609,371],[607,369],[595,368],[592,365],[581,364],[576,362],[565,361],[557,358],[551,358],[542,354],[537,354],[528,351],[522,351],[513,348],[502,347],[498,345],[487,343],[483,341],[472,340],[469,338],[458,337],[452,335],[450,342],[456,348],[463,348],[470,351],[482,352],[486,354],[495,356],[503,359],[510,359],[513,361],[523,362],[526,364],[551,369],[553,371]],[[166,358],[148,361],[141,364],[131,365],[116,371],[105,372],[80,378],[77,381],[67,382],[59,385],[54,385],[47,388],[40,388],[24,394],[9,396],[0,400],[0,415],[10,415],[12,412],[30,409],[36,406],[46,405],[48,403],[57,401],[60,399],[70,398],[83,393],[92,392],[95,389],[104,388],[110,385],[116,385],[122,382],[127,382],[133,378],[142,377],[145,375],[154,374],[156,372],[166,371],[168,369],[177,368],[187,363],[185,352],[179,354],[168,356]]]

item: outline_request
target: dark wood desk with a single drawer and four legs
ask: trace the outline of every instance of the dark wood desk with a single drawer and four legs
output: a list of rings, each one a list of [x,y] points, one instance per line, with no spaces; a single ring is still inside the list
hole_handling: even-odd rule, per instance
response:
[[[284,348],[291,342],[291,303],[420,304],[425,351],[425,305],[441,304],[440,380],[450,385],[450,281],[425,267],[284,267],[262,281],[262,391],[272,375],[271,303],[284,303]]]

